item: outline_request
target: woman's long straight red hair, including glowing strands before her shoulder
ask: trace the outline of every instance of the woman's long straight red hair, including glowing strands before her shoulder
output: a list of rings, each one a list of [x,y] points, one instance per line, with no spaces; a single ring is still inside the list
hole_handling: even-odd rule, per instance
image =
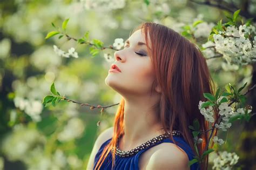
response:
[[[200,130],[208,130],[208,122],[200,113],[198,104],[200,100],[206,101],[203,93],[215,93],[206,59],[195,44],[165,25],[146,22],[131,33],[139,29],[144,33],[147,46],[149,47],[148,33],[152,44],[151,50],[149,48],[147,50],[150,52],[156,74],[152,89],[156,83],[161,89],[160,101],[154,106],[158,118],[165,132],[179,130],[196,153],[193,135],[188,126],[193,125],[194,119],[198,119]],[[103,149],[95,169],[102,166],[110,152],[113,155],[112,168],[114,166],[117,138],[124,134],[124,106],[125,101],[122,98],[114,118],[112,139]],[[217,117],[216,113],[215,117]],[[200,136],[203,139],[203,142],[197,145],[200,155],[204,152],[208,136],[208,133]],[[172,135],[170,139],[176,144]],[[207,169],[207,166],[208,155],[200,164],[200,168]]]

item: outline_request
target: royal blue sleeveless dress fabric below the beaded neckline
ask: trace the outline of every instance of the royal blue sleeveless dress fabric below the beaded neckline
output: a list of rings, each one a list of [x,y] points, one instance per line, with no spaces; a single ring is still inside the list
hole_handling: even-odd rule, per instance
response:
[[[93,166],[93,169],[95,169],[96,167],[96,164],[100,158],[100,155],[102,154],[103,152],[103,149],[104,147],[109,144],[110,140],[112,138],[106,140],[102,146],[99,148],[99,151],[98,153],[96,154],[95,156],[95,162],[94,162],[94,166]],[[193,157],[194,157],[194,154],[193,154],[193,151],[191,149],[191,147],[187,144],[187,142],[183,139],[183,137],[173,137],[173,139],[177,142],[177,145],[182,148],[187,156],[188,156],[188,159],[189,160],[192,160]],[[156,145],[159,145],[163,142],[171,142],[173,143],[173,141],[169,138],[166,138],[164,140],[161,140],[159,141]],[[179,143],[178,143],[179,142]],[[181,145],[180,145],[181,144]],[[156,145],[153,145],[153,146],[156,146]],[[153,146],[150,146],[150,147],[147,147],[147,148],[144,148],[142,150],[140,150],[138,153],[136,153],[135,155],[132,155],[131,157],[120,157],[119,155],[116,154],[116,158],[115,158],[115,165],[113,167],[114,170],[116,169],[124,169],[124,170],[139,170],[139,166],[138,166],[138,163],[139,163],[139,157],[140,155],[145,152],[147,149],[153,147]],[[190,170],[200,170],[200,168],[198,167],[199,164],[198,162],[191,165],[190,166]],[[102,164],[102,167],[100,167],[100,169],[107,169],[107,170],[111,170],[111,167],[112,167],[112,153],[110,152],[106,159],[104,160],[103,164]],[[198,168],[198,169],[197,169]]]

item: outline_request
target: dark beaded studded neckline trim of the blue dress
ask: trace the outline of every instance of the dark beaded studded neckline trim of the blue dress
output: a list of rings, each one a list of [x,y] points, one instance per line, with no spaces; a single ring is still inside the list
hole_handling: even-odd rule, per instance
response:
[[[144,142],[143,144],[137,146],[136,148],[131,149],[130,151],[121,151],[120,150],[120,148],[118,146],[118,143],[119,143],[118,141],[119,141],[120,137],[118,137],[117,144],[116,144],[116,155],[119,155],[120,157],[123,157],[123,158],[131,157],[132,155],[138,153],[142,149],[156,145],[156,144],[158,144],[158,142],[163,141],[166,138],[169,138],[170,134],[171,134],[171,131],[166,132],[164,134],[160,134],[157,137],[154,137],[154,138]],[[177,137],[177,136],[179,137],[180,135],[181,135],[181,133],[179,131],[177,131],[177,130],[172,131],[173,137]],[[121,137],[122,137],[122,135],[121,135]],[[114,150],[114,147],[112,147],[112,151],[113,150]]]

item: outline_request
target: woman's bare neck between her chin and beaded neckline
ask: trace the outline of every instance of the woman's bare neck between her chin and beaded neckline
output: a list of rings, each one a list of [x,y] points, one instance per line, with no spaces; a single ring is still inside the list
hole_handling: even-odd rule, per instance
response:
[[[157,112],[150,108],[155,102],[150,97],[125,99],[124,135],[119,143],[123,151],[130,150],[164,133],[157,119]]]

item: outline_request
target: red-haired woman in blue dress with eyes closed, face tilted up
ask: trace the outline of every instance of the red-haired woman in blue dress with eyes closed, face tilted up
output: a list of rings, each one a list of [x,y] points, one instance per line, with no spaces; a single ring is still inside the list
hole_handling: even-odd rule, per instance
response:
[[[213,81],[196,45],[147,22],[133,30],[114,57],[105,83],[123,98],[113,128],[99,135],[87,168],[199,169],[198,163],[188,166],[196,155],[188,126],[198,119],[200,130],[207,130],[198,104],[205,101],[203,93],[213,93]],[[201,155],[207,135],[200,138]],[[207,164],[205,157],[200,169]]]

